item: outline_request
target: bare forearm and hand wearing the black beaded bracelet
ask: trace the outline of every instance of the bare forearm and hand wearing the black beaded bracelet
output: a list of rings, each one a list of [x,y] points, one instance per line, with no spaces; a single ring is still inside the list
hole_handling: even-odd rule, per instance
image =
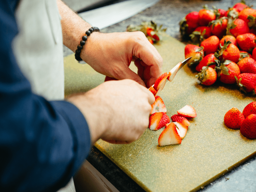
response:
[[[57,0],[61,15],[63,43],[73,52],[91,25]],[[97,26],[94,26],[97,27]],[[135,57],[134,57],[135,56]],[[97,72],[116,79],[132,79],[147,87],[162,73],[163,59],[156,48],[140,32],[93,32],[87,39],[80,57]],[[128,67],[136,59],[138,74]]]

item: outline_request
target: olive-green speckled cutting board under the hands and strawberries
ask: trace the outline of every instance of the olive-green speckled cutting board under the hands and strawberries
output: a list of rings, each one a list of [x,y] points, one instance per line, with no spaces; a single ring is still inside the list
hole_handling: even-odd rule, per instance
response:
[[[155,46],[164,59],[163,72],[185,59],[185,44],[170,36]],[[90,90],[104,81],[105,76],[87,64],[78,63],[73,54],[64,58],[64,64],[66,95]],[[133,63],[130,67],[136,71]],[[158,137],[163,128],[147,129],[139,140],[129,145],[103,140],[95,143],[145,191],[196,191],[256,154],[256,140],[246,139],[239,130],[231,130],[223,123],[229,109],[236,107],[242,111],[255,101],[255,94],[246,95],[236,85],[204,86],[196,74],[185,65],[159,94],[168,116],[177,114],[185,105],[196,109],[197,117],[189,119],[190,126],[181,144],[159,147]]]

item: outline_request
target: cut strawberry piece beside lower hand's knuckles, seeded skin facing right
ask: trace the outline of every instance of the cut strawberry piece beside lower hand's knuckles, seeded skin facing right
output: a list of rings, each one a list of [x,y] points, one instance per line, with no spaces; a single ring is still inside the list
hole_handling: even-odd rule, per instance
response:
[[[170,123],[170,118],[163,112],[156,112],[149,117],[149,126],[151,130],[158,130]]]

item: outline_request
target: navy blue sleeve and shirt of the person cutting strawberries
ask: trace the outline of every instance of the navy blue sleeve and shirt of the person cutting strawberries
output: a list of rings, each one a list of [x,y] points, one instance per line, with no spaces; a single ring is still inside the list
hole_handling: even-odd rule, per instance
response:
[[[0,1],[0,191],[57,191],[90,152],[86,120],[71,103],[33,94],[12,52],[17,1]]]

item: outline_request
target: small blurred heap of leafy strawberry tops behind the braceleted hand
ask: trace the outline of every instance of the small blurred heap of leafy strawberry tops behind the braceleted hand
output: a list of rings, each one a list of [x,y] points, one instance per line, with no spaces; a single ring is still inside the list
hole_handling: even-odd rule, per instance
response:
[[[148,41],[151,44],[155,44],[162,39],[161,33],[166,31],[166,28],[162,28],[162,26],[163,25],[157,26],[157,24],[154,21],[143,21],[138,26],[129,25],[126,28],[126,31],[141,31],[145,34],[145,36],[147,37]]]

